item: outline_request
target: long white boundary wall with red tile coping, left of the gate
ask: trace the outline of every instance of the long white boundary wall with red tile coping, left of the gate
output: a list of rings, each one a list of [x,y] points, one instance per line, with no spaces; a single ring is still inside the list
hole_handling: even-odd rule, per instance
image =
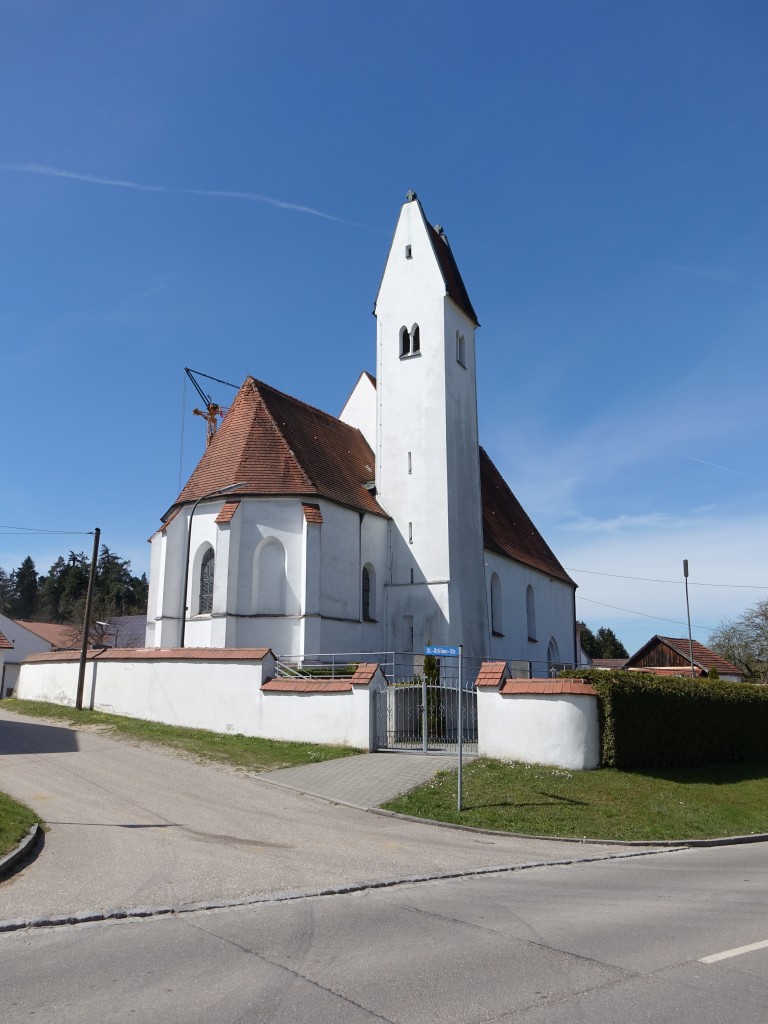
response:
[[[16,695],[74,707],[78,670],[72,655],[34,655],[22,665]],[[373,749],[381,671],[342,692],[263,691],[273,670],[268,650],[110,651],[89,655],[83,707],[214,732]]]

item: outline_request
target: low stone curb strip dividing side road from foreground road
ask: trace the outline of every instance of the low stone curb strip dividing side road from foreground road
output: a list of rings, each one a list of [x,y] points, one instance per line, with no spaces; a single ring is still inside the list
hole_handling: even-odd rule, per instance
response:
[[[350,885],[327,886],[322,889],[272,893],[269,896],[249,896],[244,897],[243,899],[182,903],[179,906],[140,906],[130,908],[116,907],[109,910],[80,910],[76,913],[55,914],[47,918],[17,918],[10,921],[0,921],[0,933],[19,932],[33,928],[61,928],[68,925],[86,925],[93,923],[105,923],[110,921],[137,921],[146,918],[173,918],[180,916],[185,913],[205,913],[207,911],[258,906],[262,903],[289,903],[293,900],[316,899],[318,896],[346,896],[351,893],[368,892],[374,889],[390,889],[393,886],[416,885],[421,882],[440,882],[447,879],[476,878],[482,874],[511,874],[515,871],[529,871],[535,867],[568,867],[571,864],[590,864],[605,860],[626,860],[630,857],[653,857],[660,853],[674,852],[677,851],[633,850],[628,853],[608,853],[595,857],[565,857],[558,858],[557,860],[530,861],[526,864],[503,864],[496,867],[459,868],[455,871],[434,871],[430,874],[413,874],[396,879],[377,879],[369,882],[356,882]]]

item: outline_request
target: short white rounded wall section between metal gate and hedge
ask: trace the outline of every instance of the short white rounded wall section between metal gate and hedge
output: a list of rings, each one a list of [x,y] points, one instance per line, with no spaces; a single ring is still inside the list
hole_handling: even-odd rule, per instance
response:
[[[600,764],[597,696],[477,690],[481,757],[584,770]]]

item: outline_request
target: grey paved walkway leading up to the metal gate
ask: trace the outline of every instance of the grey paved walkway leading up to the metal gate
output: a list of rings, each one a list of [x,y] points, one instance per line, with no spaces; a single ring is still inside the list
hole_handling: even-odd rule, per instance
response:
[[[465,761],[470,760],[465,758]],[[262,772],[261,781],[352,807],[378,807],[400,793],[456,767],[455,755],[358,754],[298,768]]]

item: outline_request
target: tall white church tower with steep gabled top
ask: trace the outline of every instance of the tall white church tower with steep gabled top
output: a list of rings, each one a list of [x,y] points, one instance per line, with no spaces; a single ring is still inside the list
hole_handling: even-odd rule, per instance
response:
[[[386,643],[488,653],[472,304],[442,229],[408,194],[375,314],[376,489],[391,516]]]

